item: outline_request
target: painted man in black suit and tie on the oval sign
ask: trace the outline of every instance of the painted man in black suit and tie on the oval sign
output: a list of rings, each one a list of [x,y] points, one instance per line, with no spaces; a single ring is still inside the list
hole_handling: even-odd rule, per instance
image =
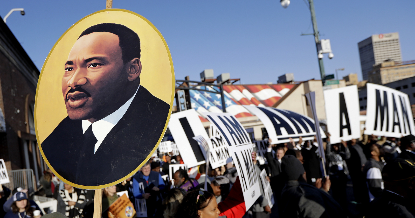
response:
[[[44,155],[69,182],[119,181],[153,150],[170,109],[140,85],[139,37],[121,24],[89,27],[64,69],[68,116],[41,143]]]

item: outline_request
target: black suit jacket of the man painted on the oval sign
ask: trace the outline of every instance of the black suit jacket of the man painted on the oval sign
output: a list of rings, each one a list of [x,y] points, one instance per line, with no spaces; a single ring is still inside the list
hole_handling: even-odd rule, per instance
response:
[[[124,116],[94,154],[85,150],[81,120],[67,116],[41,143],[49,164],[69,182],[98,186],[135,170],[156,146],[170,106],[140,86]]]

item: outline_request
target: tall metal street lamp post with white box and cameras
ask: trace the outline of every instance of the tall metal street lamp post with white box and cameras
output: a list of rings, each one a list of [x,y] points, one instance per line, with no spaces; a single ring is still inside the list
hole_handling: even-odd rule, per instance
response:
[[[284,8],[287,8],[288,5],[290,5],[290,0],[280,0],[280,3],[281,3],[281,6],[283,6]],[[321,76],[321,80],[324,85],[326,75],[325,75],[324,64],[323,64],[323,53],[329,53],[330,59],[334,57],[334,54],[331,51],[330,40],[329,39],[320,40],[320,35],[319,35],[320,33],[318,31],[317,20],[315,18],[314,2],[313,0],[308,0],[308,3],[309,3],[309,9],[311,12],[311,22],[312,22],[312,28],[314,30],[314,33],[302,34],[302,36],[303,35],[314,35],[315,45],[317,48],[318,65],[320,67],[320,76]]]

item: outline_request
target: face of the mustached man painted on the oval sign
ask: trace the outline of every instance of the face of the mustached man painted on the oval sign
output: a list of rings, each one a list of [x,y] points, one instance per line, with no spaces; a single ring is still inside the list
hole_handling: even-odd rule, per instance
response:
[[[62,94],[70,119],[102,119],[113,112],[108,108],[119,104],[125,95],[127,82],[132,81],[131,63],[139,59],[124,64],[119,42],[115,34],[93,32],[81,36],[73,45],[62,78]]]

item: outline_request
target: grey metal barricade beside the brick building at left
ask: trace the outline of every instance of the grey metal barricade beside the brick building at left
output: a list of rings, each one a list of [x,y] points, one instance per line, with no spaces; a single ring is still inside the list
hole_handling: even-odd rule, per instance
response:
[[[13,190],[17,187],[22,187],[30,191],[36,191],[36,184],[34,182],[33,170],[10,170],[7,171],[9,174],[10,183],[3,184],[5,187]]]

